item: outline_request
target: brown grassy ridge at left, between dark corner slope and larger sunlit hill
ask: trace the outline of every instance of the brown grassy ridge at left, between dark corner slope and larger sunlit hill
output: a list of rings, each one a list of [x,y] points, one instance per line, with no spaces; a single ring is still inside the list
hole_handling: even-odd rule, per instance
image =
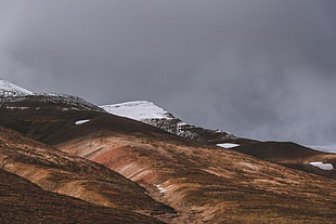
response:
[[[96,205],[151,215],[173,212],[147,196],[145,188],[102,164],[69,156],[1,127],[0,167],[46,190]]]

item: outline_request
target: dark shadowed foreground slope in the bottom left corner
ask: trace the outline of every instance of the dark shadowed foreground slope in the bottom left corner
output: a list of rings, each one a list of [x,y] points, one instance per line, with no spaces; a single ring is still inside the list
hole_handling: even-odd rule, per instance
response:
[[[1,224],[112,224],[160,223],[120,209],[99,207],[87,201],[41,189],[23,177],[0,169]]]

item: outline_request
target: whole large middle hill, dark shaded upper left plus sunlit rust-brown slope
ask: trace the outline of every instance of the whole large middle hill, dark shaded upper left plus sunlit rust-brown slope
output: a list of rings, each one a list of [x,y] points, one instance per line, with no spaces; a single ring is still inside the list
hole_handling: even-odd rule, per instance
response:
[[[334,180],[126,118],[41,107],[0,109],[0,123],[141,184],[179,211],[170,223],[336,223]]]

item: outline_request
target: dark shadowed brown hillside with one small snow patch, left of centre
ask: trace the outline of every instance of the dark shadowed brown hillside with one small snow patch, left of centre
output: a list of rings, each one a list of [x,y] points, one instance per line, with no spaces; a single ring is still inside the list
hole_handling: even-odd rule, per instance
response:
[[[76,121],[85,119],[94,122],[75,124]],[[93,110],[64,110],[63,107],[49,103],[27,109],[0,107],[0,124],[48,144],[56,144],[101,130],[120,133],[167,133],[161,129],[128,118]],[[173,134],[169,135],[171,139],[179,139]]]

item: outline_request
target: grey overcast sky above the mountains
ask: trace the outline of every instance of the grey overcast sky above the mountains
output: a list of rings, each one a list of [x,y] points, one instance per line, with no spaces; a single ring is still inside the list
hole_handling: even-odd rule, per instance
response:
[[[0,0],[0,77],[153,101],[259,140],[336,143],[335,0]]]

